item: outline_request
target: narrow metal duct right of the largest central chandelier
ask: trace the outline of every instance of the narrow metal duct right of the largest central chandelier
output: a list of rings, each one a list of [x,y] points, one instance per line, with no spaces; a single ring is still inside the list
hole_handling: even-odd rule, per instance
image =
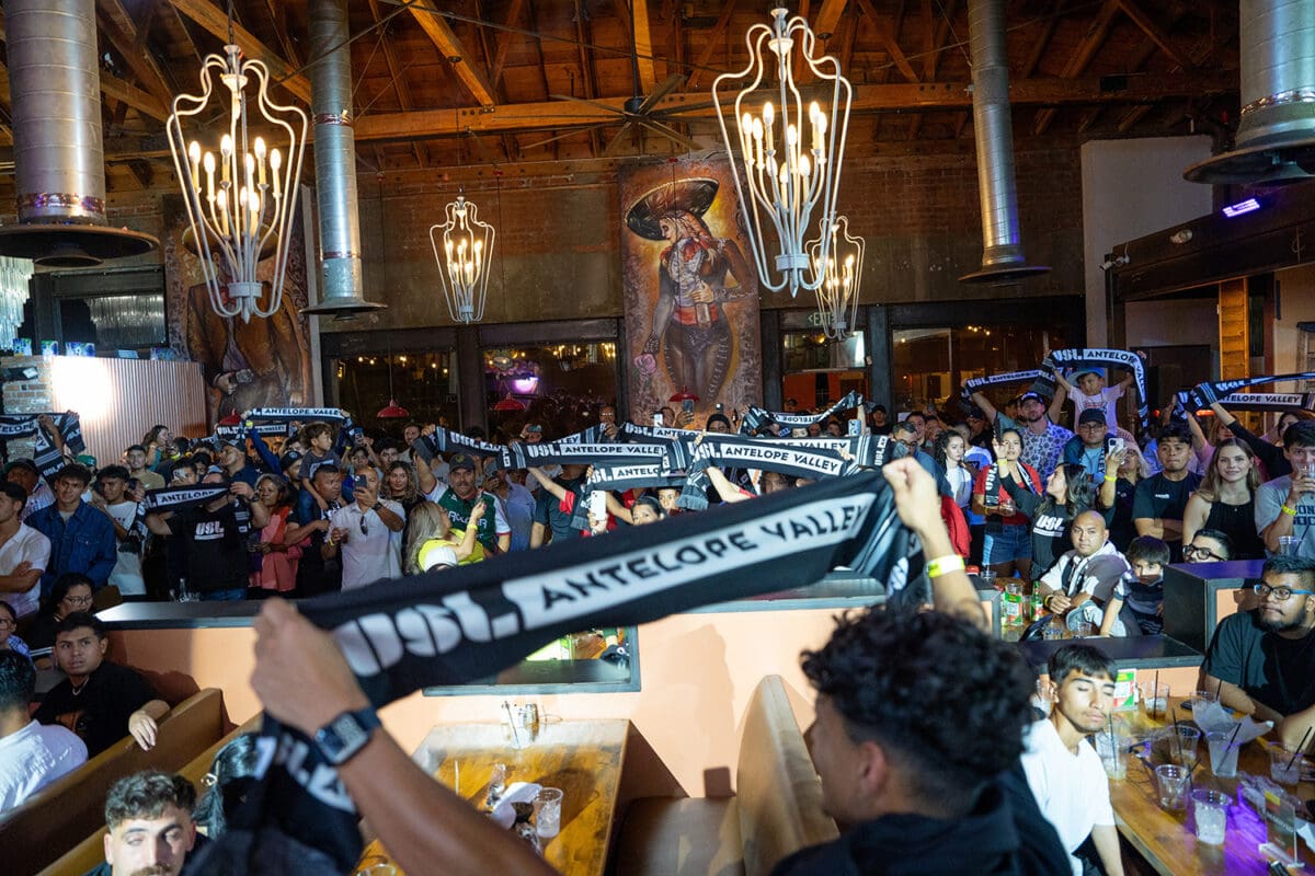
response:
[[[1009,282],[1049,268],[1028,265],[1019,242],[1003,0],[969,0],[968,45],[973,63],[973,138],[977,141],[977,193],[982,210],[982,269],[959,280]]]

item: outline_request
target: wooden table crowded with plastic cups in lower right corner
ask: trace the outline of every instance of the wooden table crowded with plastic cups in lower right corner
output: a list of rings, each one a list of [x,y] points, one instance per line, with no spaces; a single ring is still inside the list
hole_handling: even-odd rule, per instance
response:
[[[1191,712],[1184,709],[1177,697],[1178,720],[1186,722]],[[1137,714],[1145,729],[1159,726]],[[1262,737],[1264,738],[1264,737]],[[1162,876],[1265,876],[1266,862],[1256,851],[1265,842],[1264,822],[1248,808],[1236,802],[1236,779],[1216,779],[1210,772],[1210,754],[1205,739],[1201,741],[1201,766],[1194,776],[1197,788],[1223,791],[1233,797],[1228,810],[1228,834],[1223,846],[1207,846],[1197,842],[1195,821],[1191,818],[1191,804],[1182,812],[1169,813],[1160,808],[1160,796],[1155,779],[1132,755],[1128,755],[1127,779],[1110,781],[1110,802],[1114,804],[1114,821],[1119,834],[1145,858],[1157,873]],[[1261,739],[1241,747],[1237,758],[1237,772],[1249,772],[1269,777],[1269,754]],[[1285,789],[1293,791],[1290,785]],[[1307,800],[1315,796],[1315,784],[1297,785],[1294,796]],[[1297,839],[1298,856],[1307,868],[1315,867],[1315,855],[1304,841]]]

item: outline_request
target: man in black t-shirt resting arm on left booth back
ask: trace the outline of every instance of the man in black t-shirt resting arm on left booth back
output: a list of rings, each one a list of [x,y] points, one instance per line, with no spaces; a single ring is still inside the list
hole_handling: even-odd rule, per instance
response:
[[[54,658],[67,678],[42,697],[33,716],[76,733],[87,743],[88,758],[129,734],[142,749],[154,747],[156,721],[168,712],[145,678],[105,662],[108,647],[105,625],[95,616],[74,612],[59,621]]]

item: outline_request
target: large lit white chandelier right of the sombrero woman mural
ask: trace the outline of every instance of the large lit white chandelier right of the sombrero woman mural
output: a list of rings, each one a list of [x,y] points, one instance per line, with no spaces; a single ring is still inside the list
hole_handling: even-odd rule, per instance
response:
[[[759,282],[772,292],[788,286],[793,297],[801,286],[815,290],[825,282],[817,264],[826,263],[828,235],[822,235],[819,257],[814,259],[805,252],[803,235],[813,225],[814,210],[821,210],[823,227],[835,217],[852,88],[840,74],[840,62],[818,54],[817,37],[807,21],[801,16],[786,20],[788,14],[785,9],[773,9],[771,25],[756,24],[748,29],[744,37],[748,66],[740,72],[717,77],[713,102],[726,151],[731,156],[735,192],[747,219],[744,234],[753,250]],[[805,100],[794,83],[796,43],[817,80],[817,88],[830,91],[827,104],[809,102],[807,129],[803,121]],[[763,100],[765,89],[772,88],[769,64],[775,67],[780,89],[778,104]],[[726,129],[726,113],[718,95],[723,83],[727,89],[743,83],[734,105],[736,139]],[[757,93],[760,87],[764,88],[763,95]],[[771,96],[777,97],[775,93]],[[746,106],[751,100],[763,101],[756,116]],[[777,251],[771,261],[775,271],[769,271],[763,213],[776,229]]]

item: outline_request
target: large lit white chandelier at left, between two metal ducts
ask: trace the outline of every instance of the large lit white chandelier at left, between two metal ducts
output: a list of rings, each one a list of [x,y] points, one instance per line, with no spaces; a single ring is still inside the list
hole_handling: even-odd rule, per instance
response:
[[[270,99],[270,70],[243,60],[235,45],[201,66],[201,93],[179,95],[168,117],[168,146],[183,186],[192,243],[205,274],[210,306],[221,317],[270,317],[283,302],[296,185],[306,148],[306,114]],[[214,77],[220,87],[216,88]],[[249,106],[247,85],[254,85]],[[183,125],[203,129],[196,117],[226,117],[218,155],[187,142]],[[254,129],[254,130],[252,130]],[[256,135],[263,131],[264,137]],[[276,144],[268,148],[266,137]],[[275,257],[268,292],[256,276],[262,259]]]

